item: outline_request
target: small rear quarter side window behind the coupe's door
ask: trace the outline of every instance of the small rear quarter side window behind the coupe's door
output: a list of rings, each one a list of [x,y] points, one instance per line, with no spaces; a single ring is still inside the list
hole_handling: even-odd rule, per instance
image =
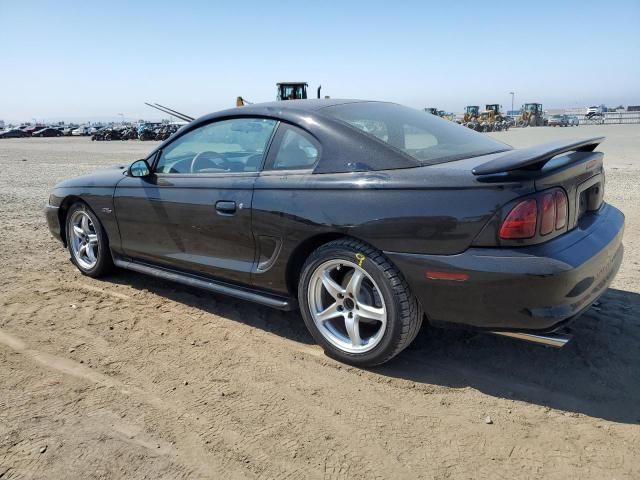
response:
[[[308,133],[290,125],[284,129],[273,156],[271,170],[298,170],[311,168],[320,156],[318,142]]]

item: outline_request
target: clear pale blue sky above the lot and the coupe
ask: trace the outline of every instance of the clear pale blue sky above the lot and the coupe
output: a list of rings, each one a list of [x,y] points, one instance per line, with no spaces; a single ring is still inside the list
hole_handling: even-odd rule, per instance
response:
[[[0,0],[0,119],[199,115],[281,80],[461,111],[640,104],[640,0]]]

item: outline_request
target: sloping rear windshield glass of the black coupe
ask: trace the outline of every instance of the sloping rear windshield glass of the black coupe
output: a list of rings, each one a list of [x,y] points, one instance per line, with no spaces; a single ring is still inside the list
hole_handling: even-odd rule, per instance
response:
[[[393,103],[347,103],[326,107],[323,112],[410,155],[423,165],[511,149],[457,123]]]

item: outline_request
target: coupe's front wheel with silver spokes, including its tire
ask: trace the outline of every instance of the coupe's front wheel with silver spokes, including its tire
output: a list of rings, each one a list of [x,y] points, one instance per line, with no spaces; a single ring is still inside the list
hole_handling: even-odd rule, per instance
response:
[[[84,203],[74,203],[66,220],[71,261],[84,275],[100,277],[113,268],[109,241],[98,217]]]

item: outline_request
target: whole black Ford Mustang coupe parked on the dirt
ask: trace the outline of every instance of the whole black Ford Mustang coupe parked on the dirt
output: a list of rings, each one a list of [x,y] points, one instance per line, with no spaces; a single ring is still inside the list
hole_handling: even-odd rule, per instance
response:
[[[266,103],[56,185],[46,214],[86,275],[299,306],[354,365],[391,359],[423,319],[560,346],[622,261],[601,141],[514,150],[396,104]]]

